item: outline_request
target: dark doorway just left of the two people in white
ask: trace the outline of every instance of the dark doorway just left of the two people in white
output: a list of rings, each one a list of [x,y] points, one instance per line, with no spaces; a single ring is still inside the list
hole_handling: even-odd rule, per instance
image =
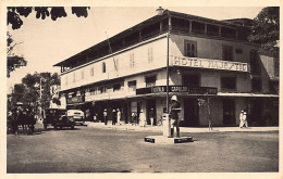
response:
[[[222,106],[223,106],[223,125],[225,126],[236,125],[235,101],[232,99],[224,99],[222,101]]]

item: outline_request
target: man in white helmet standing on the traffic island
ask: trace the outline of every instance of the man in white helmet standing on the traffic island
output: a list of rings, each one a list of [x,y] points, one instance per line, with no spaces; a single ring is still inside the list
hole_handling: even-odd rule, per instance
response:
[[[177,113],[180,112],[180,102],[177,101],[177,97],[173,95],[171,98],[172,106],[171,106],[171,112],[170,112],[170,118],[172,122],[171,125],[171,133],[170,138],[174,137],[174,127],[176,127],[176,137],[180,138],[180,119]]]

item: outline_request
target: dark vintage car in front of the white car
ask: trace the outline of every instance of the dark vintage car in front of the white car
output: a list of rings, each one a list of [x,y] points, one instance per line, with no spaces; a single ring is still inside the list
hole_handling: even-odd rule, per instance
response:
[[[49,108],[46,111],[46,118],[44,118],[44,127],[47,129],[48,125],[54,127],[54,129],[62,129],[63,127],[75,128],[75,123],[72,118],[66,116],[66,110],[62,108]]]

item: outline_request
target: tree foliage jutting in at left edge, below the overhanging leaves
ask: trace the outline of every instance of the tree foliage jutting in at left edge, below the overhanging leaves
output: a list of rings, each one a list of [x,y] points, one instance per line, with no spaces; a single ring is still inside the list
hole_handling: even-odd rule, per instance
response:
[[[7,77],[10,77],[11,72],[15,71],[21,66],[26,66],[27,62],[23,55],[17,55],[13,53],[14,47],[19,44],[14,42],[12,36],[7,33]]]

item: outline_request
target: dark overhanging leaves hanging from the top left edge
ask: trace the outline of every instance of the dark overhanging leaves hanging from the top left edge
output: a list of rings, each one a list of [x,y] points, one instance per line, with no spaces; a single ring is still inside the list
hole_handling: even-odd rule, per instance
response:
[[[46,17],[51,17],[51,20],[57,21],[59,17],[65,17],[67,14],[63,7],[8,7],[7,12],[7,25],[11,24],[13,29],[19,29],[24,24],[22,17],[27,17],[33,11],[36,12],[36,18],[45,20]],[[77,17],[87,17],[87,7],[72,7],[72,14]]]

